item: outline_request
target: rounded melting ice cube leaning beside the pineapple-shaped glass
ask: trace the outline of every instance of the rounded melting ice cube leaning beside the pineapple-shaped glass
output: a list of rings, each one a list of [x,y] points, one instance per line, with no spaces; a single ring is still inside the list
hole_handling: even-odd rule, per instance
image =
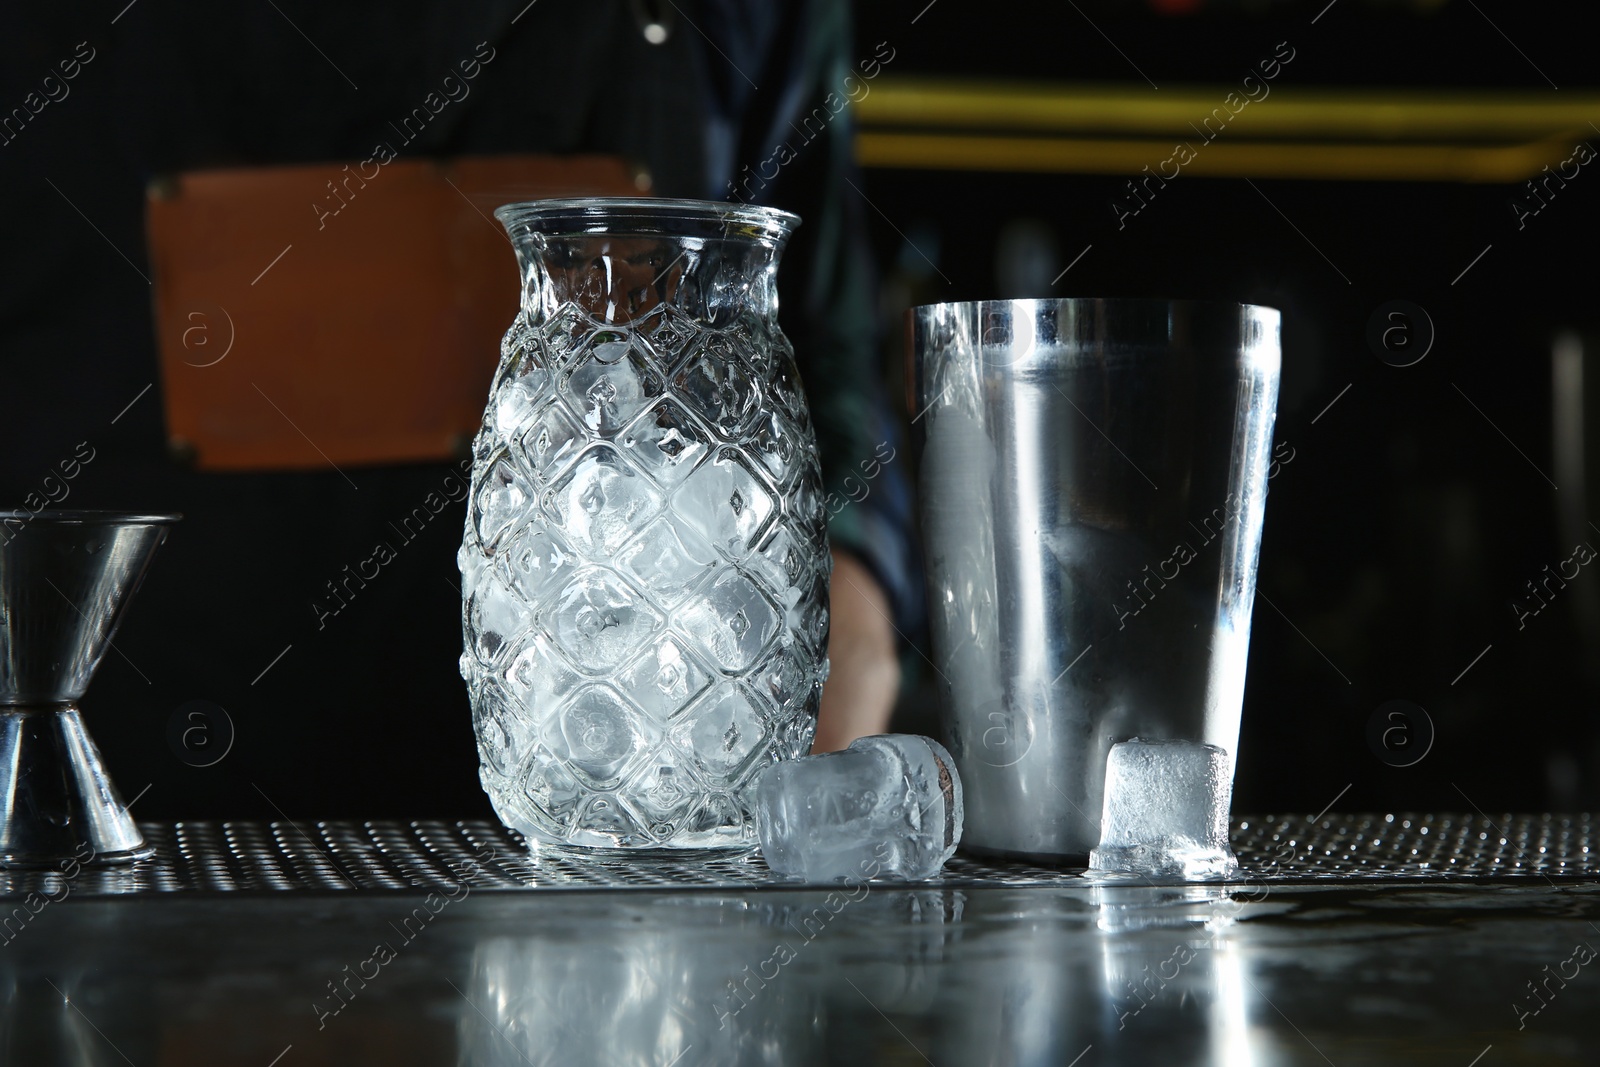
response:
[[[936,741],[861,737],[843,752],[784,760],[755,781],[762,854],[806,881],[918,881],[962,840],[962,779]]]

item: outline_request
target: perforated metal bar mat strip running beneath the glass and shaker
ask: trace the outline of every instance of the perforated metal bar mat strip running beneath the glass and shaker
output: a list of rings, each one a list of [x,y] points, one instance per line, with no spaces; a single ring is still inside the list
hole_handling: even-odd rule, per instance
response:
[[[144,822],[155,854],[126,867],[62,864],[0,870],[0,896],[126,893],[454,889],[762,889],[795,888],[760,856],[739,859],[574,861],[526,849],[486,819],[328,822]],[[1462,881],[1600,877],[1590,814],[1246,816],[1234,822],[1246,880]],[[947,888],[1085,886],[1082,872],[1022,862],[952,859]]]

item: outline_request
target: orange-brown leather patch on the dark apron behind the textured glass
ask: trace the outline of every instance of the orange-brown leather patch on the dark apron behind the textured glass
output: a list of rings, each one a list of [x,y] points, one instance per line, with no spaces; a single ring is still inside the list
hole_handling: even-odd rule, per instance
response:
[[[464,454],[517,312],[493,210],[640,195],[603,157],[365,160],[150,186],[174,454],[203,470]]]

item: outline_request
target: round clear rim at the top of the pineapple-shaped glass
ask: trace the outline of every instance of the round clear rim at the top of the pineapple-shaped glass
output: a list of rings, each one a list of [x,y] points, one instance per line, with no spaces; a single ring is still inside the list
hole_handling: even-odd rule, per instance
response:
[[[779,208],[666,197],[571,197],[494,208],[507,230],[536,234],[675,234],[787,238],[800,216]]]

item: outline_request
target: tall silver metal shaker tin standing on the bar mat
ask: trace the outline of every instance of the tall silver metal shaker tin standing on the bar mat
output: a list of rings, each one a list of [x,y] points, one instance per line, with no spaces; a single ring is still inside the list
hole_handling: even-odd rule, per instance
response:
[[[1115,741],[1237,755],[1278,320],[1182,301],[912,309],[963,848],[1082,862]]]

